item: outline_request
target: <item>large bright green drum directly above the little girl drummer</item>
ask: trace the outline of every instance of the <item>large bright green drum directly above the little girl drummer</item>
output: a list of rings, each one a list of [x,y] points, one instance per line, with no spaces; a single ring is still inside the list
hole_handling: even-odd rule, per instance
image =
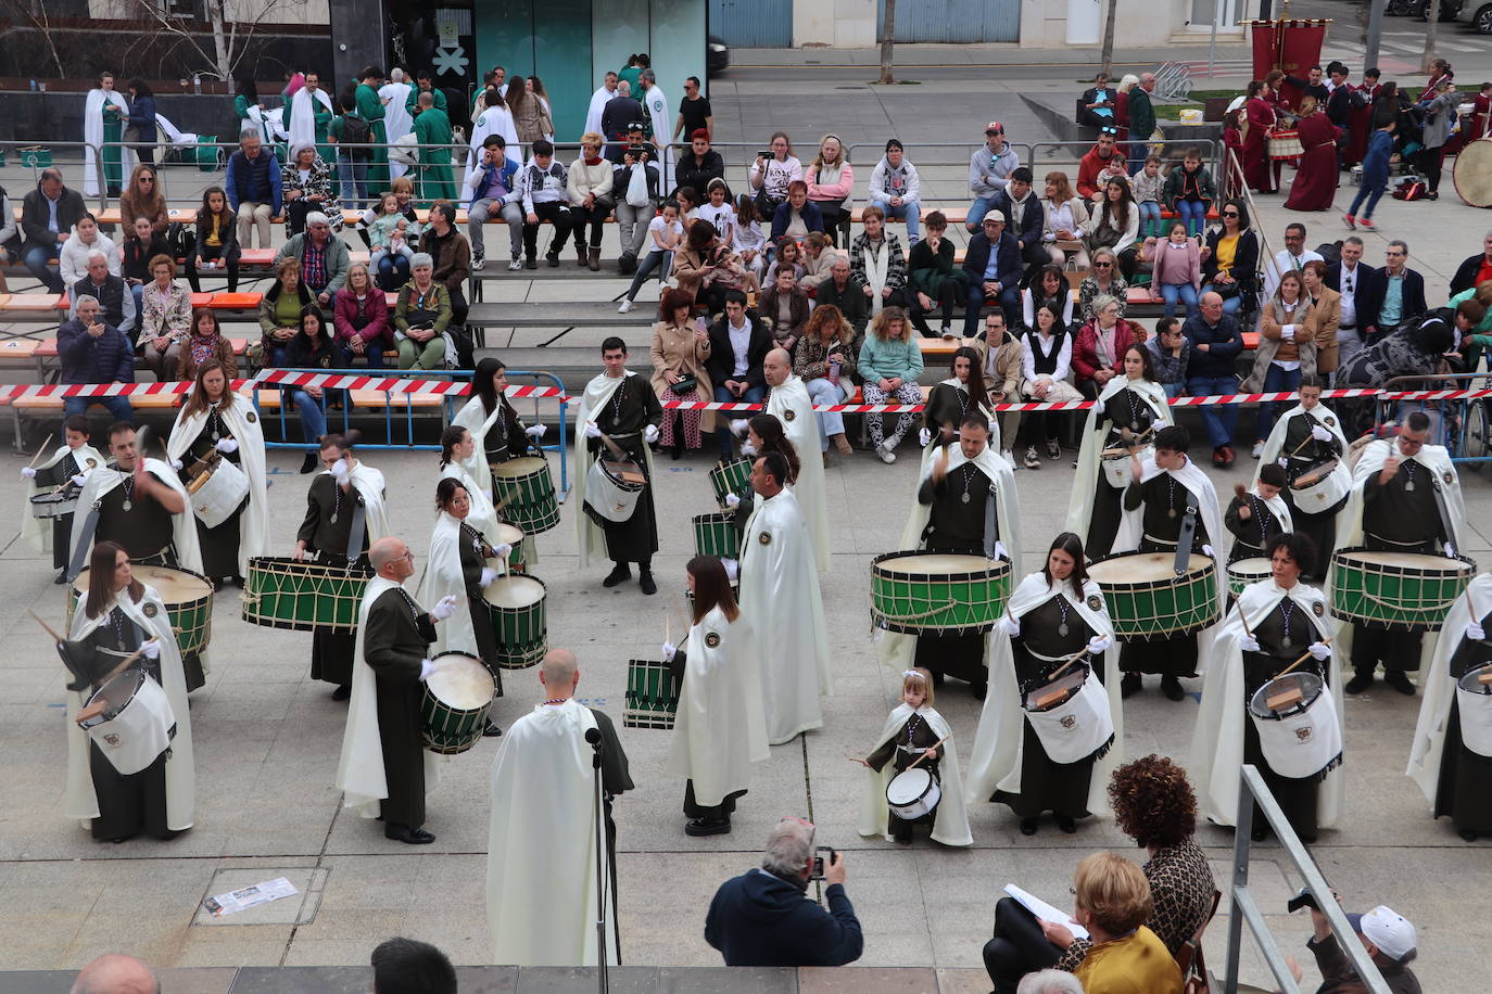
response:
[[[1010,598],[1010,563],[959,553],[886,553],[870,563],[870,618],[910,635],[988,632]]]

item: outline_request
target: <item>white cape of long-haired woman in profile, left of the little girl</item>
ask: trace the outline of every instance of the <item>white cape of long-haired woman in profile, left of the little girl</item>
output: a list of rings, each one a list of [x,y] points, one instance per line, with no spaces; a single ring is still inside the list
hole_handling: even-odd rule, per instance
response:
[[[710,808],[750,785],[750,765],[771,757],[761,700],[761,644],[746,615],[712,608],[683,647],[683,688],[667,770],[694,781]]]

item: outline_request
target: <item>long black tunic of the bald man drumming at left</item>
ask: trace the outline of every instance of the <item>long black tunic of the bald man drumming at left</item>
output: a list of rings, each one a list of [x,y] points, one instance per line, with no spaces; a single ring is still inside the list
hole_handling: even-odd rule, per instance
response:
[[[425,823],[419,663],[433,641],[436,627],[430,615],[416,617],[413,601],[403,587],[385,590],[369,608],[363,659],[377,680],[377,738],[388,781],[388,797],[382,803],[385,824],[418,829]]]

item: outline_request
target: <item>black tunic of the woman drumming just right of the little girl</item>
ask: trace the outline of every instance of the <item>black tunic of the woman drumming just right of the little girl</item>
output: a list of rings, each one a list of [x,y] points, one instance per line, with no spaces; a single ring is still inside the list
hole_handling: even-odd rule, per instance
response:
[[[1067,627],[1065,635],[1062,626]],[[1094,635],[1097,632],[1062,596],[1052,596],[1046,604],[1022,615],[1021,635],[1010,639],[1021,694],[1049,683],[1047,674],[1073,653],[1082,651]],[[1089,660],[1094,666],[1092,678],[1103,681],[1103,656]],[[1088,788],[1097,754],[1076,763],[1056,763],[1046,754],[1041,736],[1031,723],[1022,720],[1021,724],[1021,793],[997,790],[991,800],[1010,805],[1010,809],[1022,818],[1035,818],[1043,811],[1068,818],[1086,817]]]

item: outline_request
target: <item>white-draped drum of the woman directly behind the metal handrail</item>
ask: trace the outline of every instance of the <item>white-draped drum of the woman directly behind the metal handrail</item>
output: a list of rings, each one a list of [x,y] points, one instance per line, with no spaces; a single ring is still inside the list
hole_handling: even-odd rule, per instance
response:
[[[1280,776],[1323,776],[1341,762],[1337,705],[1313,672],[1265,681],[1249,699],[1249,718],[1259,733],[1259,751]]]

